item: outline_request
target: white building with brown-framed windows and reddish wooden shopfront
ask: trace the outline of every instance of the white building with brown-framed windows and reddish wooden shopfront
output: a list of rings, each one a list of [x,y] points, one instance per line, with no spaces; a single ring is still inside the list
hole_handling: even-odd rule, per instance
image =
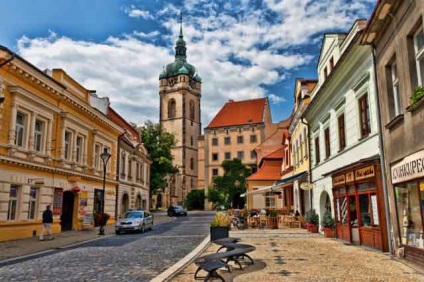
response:
[[[329,210],[337,238],[384,250],[376,80],[371,48],[360,45],[365,25],[358,20],[349,34],[325,36],[319,82],[303,117],[320,220]]]

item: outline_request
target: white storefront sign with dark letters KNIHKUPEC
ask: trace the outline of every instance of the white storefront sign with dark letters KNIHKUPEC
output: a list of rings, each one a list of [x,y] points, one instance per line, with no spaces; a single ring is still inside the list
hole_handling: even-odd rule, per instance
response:
[[[424,177],[424,150],[393,165],[391,173],[393,184]]]

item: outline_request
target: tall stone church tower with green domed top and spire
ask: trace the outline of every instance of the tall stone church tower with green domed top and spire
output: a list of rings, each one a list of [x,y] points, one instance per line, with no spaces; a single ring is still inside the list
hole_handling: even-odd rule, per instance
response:
[[[196,68],[187,62],[183,38],[182,16],[180,35],[175,46],[175,60],[159,75],[160,123],[173,133],[177,144],[172,148],[173,164],[178,172],[170,176],[161,195],[161,205],[182,204],[187,194],[197,187],[197,138],[201,133],[200,98],[202,79]]]

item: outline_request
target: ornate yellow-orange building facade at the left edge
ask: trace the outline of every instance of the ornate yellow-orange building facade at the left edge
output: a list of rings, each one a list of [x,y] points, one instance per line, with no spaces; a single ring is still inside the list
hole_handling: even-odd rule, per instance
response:
[[[0,46],[0,241],[38,236],[50,205],[53,233],[115,217],[117,140],[124,130],[89,105],[92,91],[63,70],[41,71]]]

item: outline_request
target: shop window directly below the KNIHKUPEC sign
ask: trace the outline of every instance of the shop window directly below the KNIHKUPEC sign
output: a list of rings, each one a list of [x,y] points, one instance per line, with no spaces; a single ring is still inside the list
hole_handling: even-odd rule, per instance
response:
[[[403,245],[416,246],[423,228],[424,182],[409,182],[395,186],[395,199],[401,242]]]

